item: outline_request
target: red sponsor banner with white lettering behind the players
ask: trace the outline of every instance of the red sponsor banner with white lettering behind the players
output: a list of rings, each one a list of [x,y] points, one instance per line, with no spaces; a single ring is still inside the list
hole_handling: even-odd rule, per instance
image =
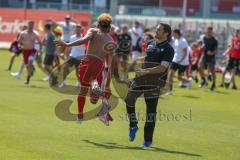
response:
[[[90,12],[68,12],[68,11],[49,11],[49,10],[24,10],[24,9],[3,9],[0,10],[0,42],[11,42],[21,31],[21,27],[27,20],[35,22],[35,29],[43,32],[45,21],[53,19],[64,21],[66,15],[71,15],[74,19],[81,22],[83,28],[87,30],[92,21]]]

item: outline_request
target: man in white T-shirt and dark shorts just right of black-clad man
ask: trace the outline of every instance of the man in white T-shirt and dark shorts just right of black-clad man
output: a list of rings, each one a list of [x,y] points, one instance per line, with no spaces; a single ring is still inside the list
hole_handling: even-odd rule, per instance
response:
[[[175,50],[175,55],[173,58],[173,63],[168,73],[168,85],[169,91],[168,95],[173,95],[173,77],[176,71],[178,71],[178,80],[184,84],[188,84],[191,87],[191,79],[184,76],[184,72],[189,65],[189,52],[188,52],[188,42],[182,37],[179,29],[173,31],[173,48]]]

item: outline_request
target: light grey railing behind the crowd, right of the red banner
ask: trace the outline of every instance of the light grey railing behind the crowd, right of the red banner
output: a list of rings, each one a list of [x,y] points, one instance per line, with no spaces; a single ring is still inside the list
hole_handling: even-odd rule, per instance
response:
[[[129,26],[137,20],[142,24],[143,28],[148,28],[152,32],[155,32],[155,26],[159,22],[166,22],[170,24],[173,29],[182,29],[181,18],[163,18],[163,17],[147,17],[147,16],[130,16],[130,15],[118,15],[115,23],[118,26],[128,24]],[[223,53],[228,47],[229,40],[235,35],[237,29],[240,28],[239,21],[217,20],[217,19],[187,19],[185,24],[185,37],[189,43],[194,42],[200,38],[206,28],[212,26],[214,29],[215,37],[219,42],[219,53]]]

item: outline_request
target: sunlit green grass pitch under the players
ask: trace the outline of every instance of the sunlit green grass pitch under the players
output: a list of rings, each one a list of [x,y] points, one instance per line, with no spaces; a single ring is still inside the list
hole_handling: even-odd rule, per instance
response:
[[[109,127],[98,119],[82,124],[62,121],[55,115],[56,104],[76,96],[53,91],[37,69],[29,86],[5,71],[10,54],[0,50],[0,160],[239,160],[240,91],[218,88],[179,89],[163,95],[158,114],[153,148],[139,149],[144,122],[133,143],[128,141],[125,104],[119,100],[111,113]],[[17,71],[18,57],[13,67]],[[220,75],[218,75],[220,79]],[[237,81],[239,82],[239,78]],[[68,83],[74,84],[74,74]],[[177,86],[177,84],[176,84]],[[240,83],[238,83],[240,87]],[[96,107],[87,99],[86,110]],[[137,112],[144,117],[145,103],[139,99]],[[164,117],[168,116],[168,119]],[[182,116],[172,119],[171,115]],[[170,118],[169,118],[170,117]]]

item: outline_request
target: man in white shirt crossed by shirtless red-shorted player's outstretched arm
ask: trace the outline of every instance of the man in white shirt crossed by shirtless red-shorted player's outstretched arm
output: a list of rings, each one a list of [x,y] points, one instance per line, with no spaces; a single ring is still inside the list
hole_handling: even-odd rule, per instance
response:
[[[69,40],[70,42],[74,42],[81,38],[83,38],[82,26],[78,24],[76,25],[76,28],[75,28],[75,34],[72,35]],[[85,51],[84,45],[75,46],[71,48],[71,52],[68,57],[68,60],[63,65],[63,82],[60,85],[61,88],[64,88],[67,86],[66,77],[69,73],[69,67],[74,66],[76,70],[76,76],[78,75],[78,65],[81,63],[81,60],[84,58],[85,52],[86,51]],[[79,83],[77,82],[75,86],[78,87]]]

